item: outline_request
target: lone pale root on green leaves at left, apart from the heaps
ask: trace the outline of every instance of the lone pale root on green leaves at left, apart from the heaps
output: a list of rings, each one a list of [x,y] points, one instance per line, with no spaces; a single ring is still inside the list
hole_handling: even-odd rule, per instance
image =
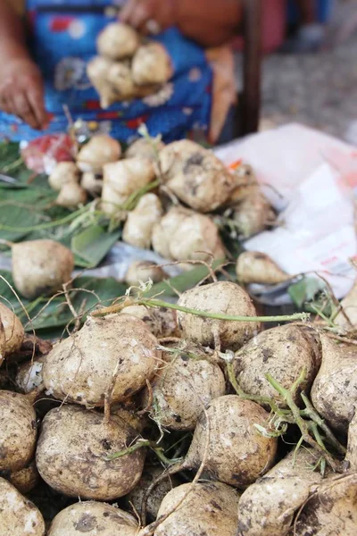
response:
[[[29,240],[12,246],[12,278],[22,296],[49,296],[71,280],[71,249],[54,240]]]

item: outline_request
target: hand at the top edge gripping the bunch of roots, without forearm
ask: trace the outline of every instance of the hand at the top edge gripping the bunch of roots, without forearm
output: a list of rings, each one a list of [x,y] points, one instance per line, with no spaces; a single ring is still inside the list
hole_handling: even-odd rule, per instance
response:
[[[158,33],[175,26],[177,18],[178,0],[129,0],[120,13],[120,21],[142,33]]]

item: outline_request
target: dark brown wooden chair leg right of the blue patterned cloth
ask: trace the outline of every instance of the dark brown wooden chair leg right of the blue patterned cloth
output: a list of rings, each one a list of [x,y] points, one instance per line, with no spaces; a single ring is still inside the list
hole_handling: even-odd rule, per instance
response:
[[[235,138],[258,130],[262,80],[262,0],[242,0],[243,91],[238,96]]]

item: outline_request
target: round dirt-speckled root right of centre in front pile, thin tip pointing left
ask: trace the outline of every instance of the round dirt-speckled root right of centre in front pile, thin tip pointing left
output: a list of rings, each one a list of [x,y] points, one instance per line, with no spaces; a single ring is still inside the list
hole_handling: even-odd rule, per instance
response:
[[[270,415],[262,406],[227,395],[212,400],[207,416],[209,428],[204,413],[198,419],[187,467],[198,468],[202,463],[210,430],[204,468],[212,478],[243,488],[269,471],[277,453],[277,439],[264,437],[256,428],[269,426]]]

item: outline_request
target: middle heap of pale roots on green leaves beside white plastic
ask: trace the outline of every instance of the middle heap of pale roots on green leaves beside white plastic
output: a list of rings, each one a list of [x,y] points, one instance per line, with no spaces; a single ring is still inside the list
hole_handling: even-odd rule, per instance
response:
[[[72,208],[94,196],[93,214],[121,225],[124,242],[153,248],[182,269],[227,258],[222,230],[247,239],[276,219],[249,166],[228,169],[189,140],[164,146],[145,136],[122,154],[117,141],[96,135],[76,162],[57,164],[49,184],[59,191],[58,205]]]

